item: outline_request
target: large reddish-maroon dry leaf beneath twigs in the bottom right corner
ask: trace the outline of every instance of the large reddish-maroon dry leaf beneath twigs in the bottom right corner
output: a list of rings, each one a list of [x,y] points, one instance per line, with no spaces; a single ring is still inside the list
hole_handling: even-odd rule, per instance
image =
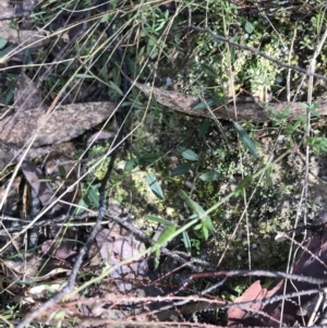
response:
[[[312,277],[317,279],[326,279],[327,264],[327,224],[324,226],[322,234],[314,234],[296,262],[293,274]],[[326,280],[327,281],[327,280]],[[284,293],[286,280],[280,280],[272,286],[270,290],[263,289],[259,281],[254,282],[240,297],[235,300],[235,306],[228,309],[228,327],[280,327],[281,307],[279,302],[269,302],[268,304],[250,304],[246,308],[238,307],[239,302],[250,302],[265,297],[282,295]],[[327,282],[320,286],[308,283],[305,281],[292,281],[287,283],[286,293],[294,293],[296,291],[310,291],[312,289],[326,288]],[[287,299],[283,305],[282,324],[293,326],[296,321],[307,321],[310,313],[305,309],[306,305],[312,302],[315,294],[307,293],[301,297]],[[302,308],[302,312],[301,312]],[[250,311],[249,311],[250,309]],[[259,314],[262,311],[263,314]],[[302,315],[301,315],[302,314]]]

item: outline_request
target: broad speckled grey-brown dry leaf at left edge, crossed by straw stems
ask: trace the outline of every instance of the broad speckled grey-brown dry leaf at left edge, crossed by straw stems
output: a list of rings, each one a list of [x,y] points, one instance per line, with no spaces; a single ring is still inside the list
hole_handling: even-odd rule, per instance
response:
[[[7,118],[0,122],[0,169],[12,161],[15,150],[35,133],[37,137],[28,151],[31,158],[47,154],[51,150],[49,146],[100,124],[114,113],[116,107],[113,102],[72,104],[58,106],[50,114],[40,114],[36,108]]]

